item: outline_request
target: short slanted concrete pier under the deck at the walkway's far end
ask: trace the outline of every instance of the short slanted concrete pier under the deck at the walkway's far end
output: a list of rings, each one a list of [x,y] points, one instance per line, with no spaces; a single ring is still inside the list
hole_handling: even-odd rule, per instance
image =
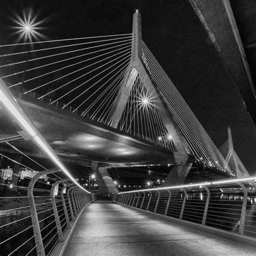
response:
[[[96,173],[100,193],[117,194],[119,192],[106,167],[99,167],[98,162],[92,161],[91,168]]]

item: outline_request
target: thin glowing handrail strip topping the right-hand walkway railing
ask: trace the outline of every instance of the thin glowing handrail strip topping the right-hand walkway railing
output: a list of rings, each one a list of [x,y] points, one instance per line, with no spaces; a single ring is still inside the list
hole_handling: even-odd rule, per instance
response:
[[[253,177],[237,178],[237,179],[230,179],[230,180],[217,180],[217,181],[205,182],[205,183],[185,184],[185,185],[171,186],[171,187],[158,187],[158,188],[148,188],[145,190],[132,190],[132,191],[126,191],[126,192],[119,192],[118,194],[143,192],[143,191],[171,190],[171,189],[183,188],[183,187],[200,187],[200,186],[218,185],[218,184],[231,184],[231,183],[237,183],[242,181],[254,181],[255,179],[256,179],[256,176],[253,176]]]

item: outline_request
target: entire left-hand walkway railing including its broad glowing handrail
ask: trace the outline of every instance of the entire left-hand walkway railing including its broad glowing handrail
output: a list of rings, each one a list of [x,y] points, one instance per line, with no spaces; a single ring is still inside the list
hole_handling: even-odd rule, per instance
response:
[[[30,141],[28,146],[32,146],[33,149],[33,146],[37,145],[50,160],[46,160],[45,163],[57,166],[57,169],[48,170],[16,146],[9,144],[9,138],[1,141],[7,143],[18,155],[25,157],[25,162],[28,162],[24,165],[21,160],[17,161],[1,152],[1,158],[6,161],[5,165],[16,164],[36,171],[33,174],[37,174],[33,178],[26,177],[21,180],[17,174],[18,170],[14,170],[14,184],[0,176],[0,254],[48,255],[60,242],[66,244],[65,241],[79,214],[93,198],[62,164],[2,79],[0,106],[10,120],[15,120],[15,125],[19,127],[16,129],[22,131],[25,134],[24,138]],[[16,135],[11,136],[11,140],[14,137],[20,139]],[[34,166],[37,170],[33,170]]]

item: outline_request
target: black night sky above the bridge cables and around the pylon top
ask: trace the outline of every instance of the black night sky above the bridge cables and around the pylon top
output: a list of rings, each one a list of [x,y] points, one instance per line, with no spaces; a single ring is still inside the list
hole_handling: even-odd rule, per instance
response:
[[[132,32],[132,15],[142,15],[142,38],[217,147],[231,126],[234,148],[247,170],[256,166],[256,132],[237,87],[189,1],[11,1],[0,2],[0,44],[17,38],[8,26],[12,11],[31,7],[47,39]]]

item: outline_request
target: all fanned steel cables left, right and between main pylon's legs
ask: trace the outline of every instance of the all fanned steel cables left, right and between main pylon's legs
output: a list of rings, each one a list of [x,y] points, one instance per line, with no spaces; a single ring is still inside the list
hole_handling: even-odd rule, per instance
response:
[[[52,46],[53,44],[53,46]],[[2,45],[2,78],[11,89],[110,125],[125,79],[134,69],[134,35],[113,35]],[[6,53],[9,52],[9,53]],[[234,176],[223,155],[142,42],[146,69],[198,163]],[[154,100],[137,73],[117,129],[176,150]]]

